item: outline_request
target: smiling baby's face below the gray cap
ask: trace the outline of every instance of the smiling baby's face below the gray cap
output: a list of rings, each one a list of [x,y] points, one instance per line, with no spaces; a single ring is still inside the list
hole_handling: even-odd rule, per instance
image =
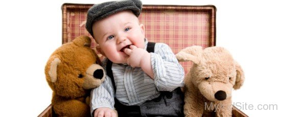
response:
[[[92,26],[98,49],[113,63],[126,63],[129,57],[123,50],[129,45],[145,47],[144,25],[139,24],[131,11],[121,11],[95,22]]]

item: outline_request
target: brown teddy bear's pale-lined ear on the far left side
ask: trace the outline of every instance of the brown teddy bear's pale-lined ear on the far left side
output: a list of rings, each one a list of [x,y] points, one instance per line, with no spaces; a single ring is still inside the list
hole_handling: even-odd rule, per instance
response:
[[[60,64],[60,62],[61,61],[58,57],[50,57],[49,67],[46,66],[46,68],[49,68],[49,70],[48,69],[46,69],[46,70],[48,70],[47,73],[50,76],[50,79],[47,79],[47,80],[49,80],[49,81],[51,80],[51,82],[57,81],[57,67]]]

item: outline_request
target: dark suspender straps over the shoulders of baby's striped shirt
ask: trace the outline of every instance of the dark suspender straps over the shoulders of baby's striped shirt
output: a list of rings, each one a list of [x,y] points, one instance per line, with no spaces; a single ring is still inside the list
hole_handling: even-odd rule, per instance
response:
[[[154,42],[148,42],[147,44],[147,51],[150,53],[150,52],[154,52],[154,47],[155,47],[155,43]],[[112,85],[113,85],[113,88],[114,88],[114,91],[116,92],[116,86],[115,86],[115,81],[114,81],[114,78],[113,78],[113,73],[112,73],[112,62],[110,60],[107,60],[107,64],[106,64],[106,73],[107,73],[107,76],[110,77],[111,81],[112,81]]]

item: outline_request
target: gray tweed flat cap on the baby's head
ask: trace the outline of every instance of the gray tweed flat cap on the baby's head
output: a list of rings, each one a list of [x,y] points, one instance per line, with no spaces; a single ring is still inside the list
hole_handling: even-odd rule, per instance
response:
[[[93,37],[92,24],[116,12],[131,10],[137,17],[142,12],[142,2],[139,0],[111,1],[93,5],[87,13],[86,29]]]

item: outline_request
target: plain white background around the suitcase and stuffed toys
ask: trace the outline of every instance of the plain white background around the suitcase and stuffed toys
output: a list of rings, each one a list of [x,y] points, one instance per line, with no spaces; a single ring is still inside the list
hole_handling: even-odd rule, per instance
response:
[[[37,116],[50,105],[52,91],[45,81],[44,66],[61,45],[61,5],[101,2],[0,2],[0,116]],[[232,101],[243,106],[240,109],[250,116],[280,114],[279,2],[143,0],[143,4],[215,5],[217,46],[232,53],[246,76],[244,86],[233,92]],[[253,110],[249,110],[250,104]],[[275,110],[258,110],[258,104],[276,104],[278,108],[275,105]]]

